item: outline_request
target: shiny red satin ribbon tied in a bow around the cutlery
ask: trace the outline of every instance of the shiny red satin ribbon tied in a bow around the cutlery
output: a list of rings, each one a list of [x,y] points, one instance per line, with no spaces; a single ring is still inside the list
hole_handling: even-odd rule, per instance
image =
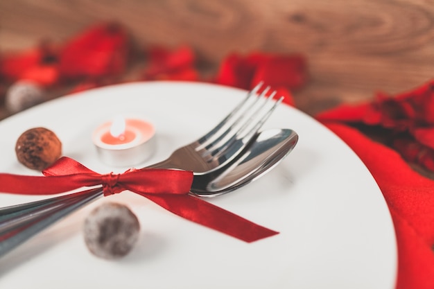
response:
[[[62,157],[42,173],[45,176],[0,174],[0,191],[51,195],[83,186],[102,185],[104,195],[132,191],[177,216],[248,243],[279,234],[190,195],[193,182],[190,171],[146,168],[130,169],[119,175],[101,175],[78,161]]]

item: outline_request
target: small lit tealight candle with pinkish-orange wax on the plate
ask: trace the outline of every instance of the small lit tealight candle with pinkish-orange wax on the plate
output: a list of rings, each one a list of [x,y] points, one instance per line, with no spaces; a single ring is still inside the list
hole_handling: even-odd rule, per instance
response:
[[[92,140],[100,159],[110,166],[133,166],[146,161],[154,151],[155,129],[141,119],[123,119],[103,123]]]

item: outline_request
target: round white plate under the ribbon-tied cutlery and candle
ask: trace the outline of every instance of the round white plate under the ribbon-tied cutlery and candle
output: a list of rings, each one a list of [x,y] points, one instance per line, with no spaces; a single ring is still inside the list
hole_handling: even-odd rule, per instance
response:
[[[168,157],[215,125],[245,91],[189,82],[103,87],[58,98],[0,122],[0,171],[35,174],[18,164],[15,141],[50,128],[64,155],[99,173],[92,130],[116,114],[155,124],[158,149],[146,164]],[[209,200],[277,236],[244,243],[189,222],[133,193],[99,200],[0,259],[0,288],[394,288],[397,246],[379,187],[354,152],[306,114],[281,105],[265,128],[292,128],[300,141],[268,175]],[[144,164],[144,165],[146,165]],[[2,207],[40,197],[0,194]],[[128,204],[141,237],[119,261],[93,256],[83,242],[85,216],[101,202]]]

